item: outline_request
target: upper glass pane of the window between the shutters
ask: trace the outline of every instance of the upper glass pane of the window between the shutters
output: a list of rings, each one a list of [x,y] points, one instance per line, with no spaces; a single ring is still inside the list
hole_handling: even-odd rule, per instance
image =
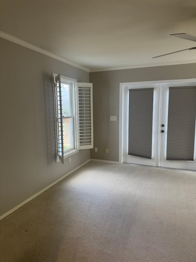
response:
[[[71,115],[70,109],[70,85],[61,83],[61,95],[62,95],[62,115]]]

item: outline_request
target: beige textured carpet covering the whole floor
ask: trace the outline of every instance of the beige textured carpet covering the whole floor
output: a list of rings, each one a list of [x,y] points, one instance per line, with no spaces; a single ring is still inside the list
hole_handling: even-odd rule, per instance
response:
[[[89,162],[0,230],[2,262],[194,262],[196,172]]]

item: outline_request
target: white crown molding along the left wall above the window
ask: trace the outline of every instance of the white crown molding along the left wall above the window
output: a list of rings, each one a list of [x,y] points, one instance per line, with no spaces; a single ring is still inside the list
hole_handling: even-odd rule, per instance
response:
[[[46,55],[48,57],[52,57],[54,59],[62,61],[64,63],[68,64],[68,65],[73,65],[74,67],[80,68],[80,69],[82,69],[82,70],[84,70],[86,72],[90,71],[88,68],[85,68],[84,66],[78,65],[78,64],[76,64],[76,63],[74,63],[74,62],[72,62],[70,60],[67,60],[66,58],[59,57],[59,56],[57,56],[57,55],[55,55],[55,54],[53,54],[51,52],[48,52],[48,51],[46,51],[46,50],[44,50],[44,49],[42,49],[40,47],[37,47],[35,45],[29,44],[28,42],[25,42],[25,41],[23,41],[23,40],[21,40],[21,39],[19,39],[17,37],[14,37],[12,35],[9,35],[7,33],[2,32],[2,31],[0,31],[0,37],[5,38],[5,39],[7,39],[9,41],[12,41],[12,42],[14,42],[14,43],[16,43],[18,45],[25,46],[25,47],[27,47],[29,49],[32,49],[32,50],[36,51],[36,52],[42,53],[42,54],[44,54],[44,55]]]

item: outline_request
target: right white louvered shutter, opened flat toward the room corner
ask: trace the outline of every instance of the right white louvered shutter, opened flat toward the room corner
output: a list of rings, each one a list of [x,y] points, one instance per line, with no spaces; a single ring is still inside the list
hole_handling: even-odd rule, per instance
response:
[[[78,149],[93,148],[92,83],[76,83]]]

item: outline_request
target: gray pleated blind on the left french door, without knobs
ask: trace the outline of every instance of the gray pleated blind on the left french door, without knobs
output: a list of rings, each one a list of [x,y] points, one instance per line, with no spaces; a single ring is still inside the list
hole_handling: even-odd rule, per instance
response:
[[[128,155],[152,158],[153,88],[129,90]]]

